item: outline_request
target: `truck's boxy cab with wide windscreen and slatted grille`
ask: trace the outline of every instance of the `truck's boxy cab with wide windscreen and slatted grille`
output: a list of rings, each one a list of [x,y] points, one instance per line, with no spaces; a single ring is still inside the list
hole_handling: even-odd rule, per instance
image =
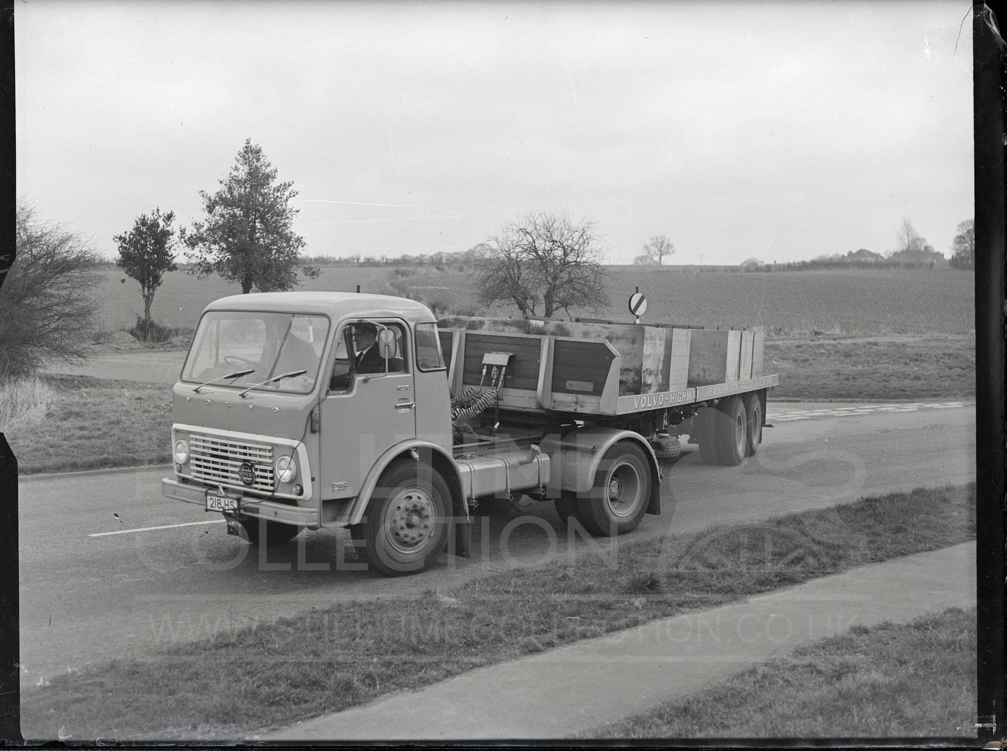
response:
[[[450,460],[445,372],[436,320],[412,300],[217,300],[172,392],[174,476],[162,492],[224,513],[253,544],[361,523],[351,501],[369,480],[374,491],[390,449]]]

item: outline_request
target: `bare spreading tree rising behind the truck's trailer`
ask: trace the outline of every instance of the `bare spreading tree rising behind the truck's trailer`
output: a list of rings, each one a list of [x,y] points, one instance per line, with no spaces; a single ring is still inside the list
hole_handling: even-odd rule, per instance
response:
[[[608,304],[595,224],[565,213],[529,212],[508,222],[474,261],[476,299],[513,302],[523,315],[551,317]]]

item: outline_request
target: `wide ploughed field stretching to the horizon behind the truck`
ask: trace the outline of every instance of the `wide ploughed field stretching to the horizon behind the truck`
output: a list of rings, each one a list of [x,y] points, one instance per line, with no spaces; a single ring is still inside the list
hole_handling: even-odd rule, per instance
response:
[[[638,286],[648,297],[644,322],[703,326],[763,325],[769,333],[821,331],[831,334],[968,334],[975,329],[974,277],[959,271],[808,271],[775,274],[704,272],[673,268],[613,266],[610,305],[575,315],[631,320],[626,300]],[[405,270],[399,272],[407,273]],[[105,272],[102,323],[132,325],[143,306],[136,282],[118,269]],[[391,292],[401,281],[425,296],[462,312],[475,312],[467,273],[399,276],[389,268],[329,267],[299,289]],[[171,326],[194,326],[211,300],[238,294],[220,277],[198,280],[183,272],[167,275],[154,298],[153,316]],[[494,311],[512,316],[517,309]]]

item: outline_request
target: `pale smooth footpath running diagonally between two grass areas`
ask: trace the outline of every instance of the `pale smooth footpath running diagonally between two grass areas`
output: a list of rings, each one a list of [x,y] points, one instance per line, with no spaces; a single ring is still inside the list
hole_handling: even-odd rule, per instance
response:
[[[269,740],[561,738],[808,641],[976,603],[966,543],[579,641],[299,723]]]

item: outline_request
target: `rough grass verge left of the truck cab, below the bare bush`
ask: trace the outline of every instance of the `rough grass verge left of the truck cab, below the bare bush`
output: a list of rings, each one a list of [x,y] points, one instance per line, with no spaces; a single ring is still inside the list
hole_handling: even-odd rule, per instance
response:
[[[43,375],[44,419],[6,432],[21,474],[170,461],[171,387]]]

